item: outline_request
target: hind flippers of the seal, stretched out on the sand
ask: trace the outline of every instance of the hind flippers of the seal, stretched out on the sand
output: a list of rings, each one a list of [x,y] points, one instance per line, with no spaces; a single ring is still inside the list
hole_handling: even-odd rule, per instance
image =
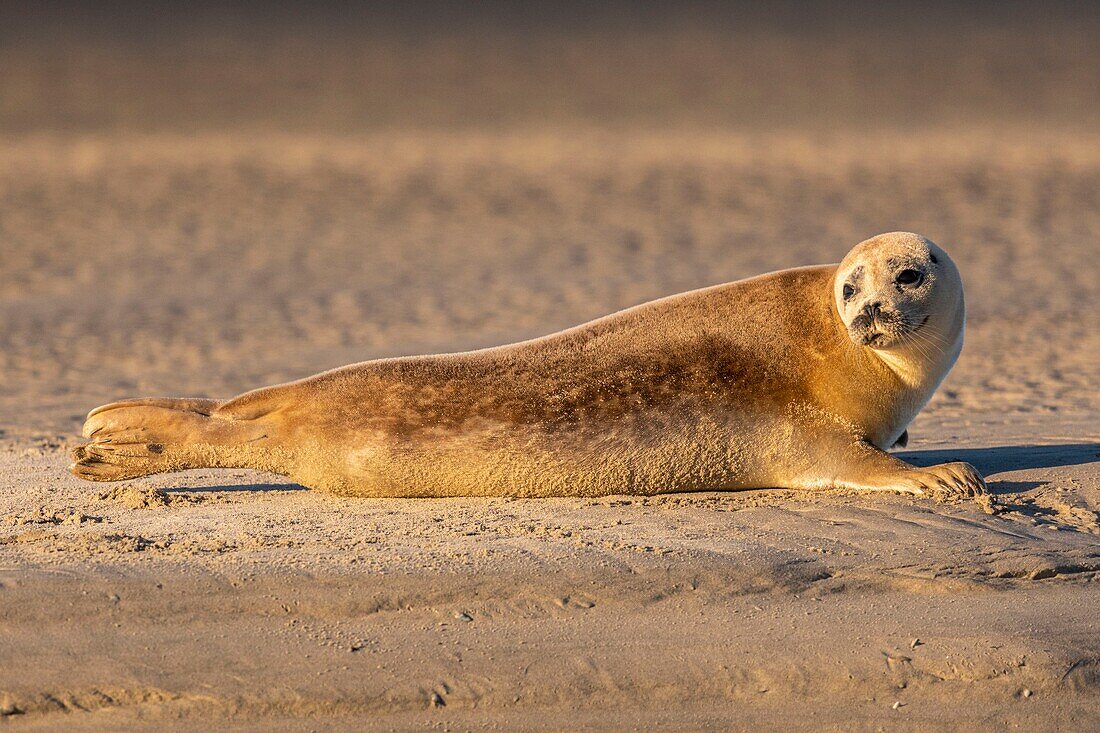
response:
[[[122,481],[193,468],[251,468],[264,426],[220,415],[219,400],[142,398],[97,407],[84,424],[89,442],[69,470],[89,481]],[[250,446],[255,446],[250,448]]]

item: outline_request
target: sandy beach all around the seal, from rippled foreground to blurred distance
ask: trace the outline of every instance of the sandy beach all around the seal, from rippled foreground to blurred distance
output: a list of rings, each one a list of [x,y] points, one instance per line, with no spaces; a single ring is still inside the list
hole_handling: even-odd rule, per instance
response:
[[[1100,727],[1100,35],[1067,18],[894,45],[954,76],[828,22],[397,19],[367,43],[144,19],[158,41],[51,46],[22,19],[0,35],[0,727]],[[968,302],[899,453],[971,462],[991,512],[67,472],[109,401],[510,342],[892,230],[947,249]]]

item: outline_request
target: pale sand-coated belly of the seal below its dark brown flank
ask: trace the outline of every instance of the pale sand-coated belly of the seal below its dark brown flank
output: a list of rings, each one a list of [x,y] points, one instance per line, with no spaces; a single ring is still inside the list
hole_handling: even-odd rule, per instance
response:
[[[603,496],[759,485],[756,420],[639,414],[601,425],[388,437],[349,451],[340,493],[385,496]]]

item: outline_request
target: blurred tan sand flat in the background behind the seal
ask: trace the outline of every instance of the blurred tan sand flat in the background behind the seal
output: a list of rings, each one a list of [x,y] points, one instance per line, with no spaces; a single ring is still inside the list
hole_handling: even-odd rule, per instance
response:
[[[1084,2],[0,2],[0,438],[898,229],[968,287],[922,419],[1094,414],[1098,119]]]

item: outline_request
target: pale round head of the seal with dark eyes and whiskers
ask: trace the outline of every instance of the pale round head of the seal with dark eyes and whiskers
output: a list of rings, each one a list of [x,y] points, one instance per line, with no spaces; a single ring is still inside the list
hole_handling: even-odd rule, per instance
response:
[[[948,351],[961,339],[959,272],[920,234],[891,232],[857,244],[837,267],[833,294],[858,346],[931,353]]]

